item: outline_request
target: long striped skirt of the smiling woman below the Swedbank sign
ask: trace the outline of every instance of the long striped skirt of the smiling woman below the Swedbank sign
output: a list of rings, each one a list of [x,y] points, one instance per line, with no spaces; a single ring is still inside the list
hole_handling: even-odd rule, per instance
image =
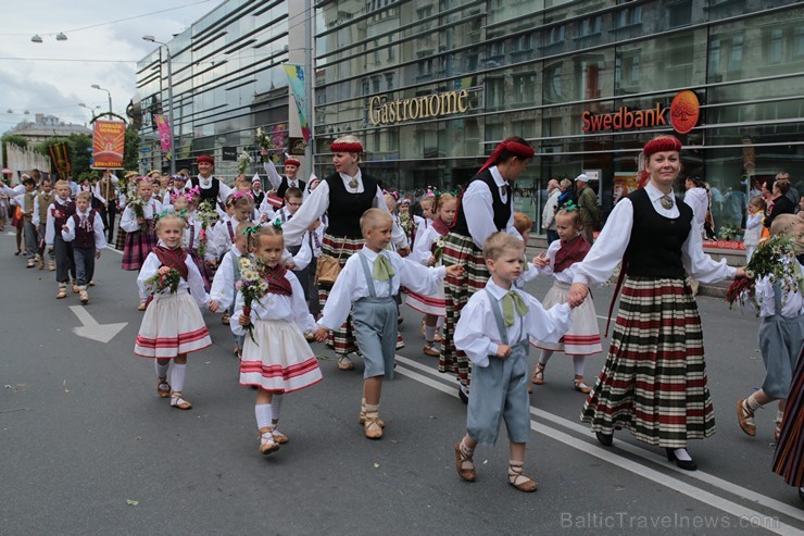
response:
[[[683,279],[627,277],[603,371],[581,421],[649,445],[687,447],[715,433],[698,306]]]

